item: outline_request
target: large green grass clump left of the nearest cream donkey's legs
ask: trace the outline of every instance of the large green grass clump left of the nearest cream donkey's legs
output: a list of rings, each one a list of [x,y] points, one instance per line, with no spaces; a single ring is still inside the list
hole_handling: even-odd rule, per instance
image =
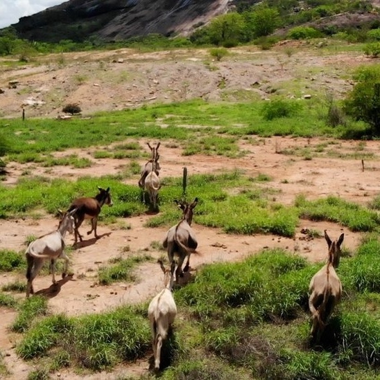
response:
[[[51,368],[79,365],[99,371],[121,361],[133,361],[150,347],[146,317],[131,307],[77,318],[49,316],[35,323],[17,345],[23,359],[46,355],[51,350]],[[51,356],[49,354],[49,356]]]

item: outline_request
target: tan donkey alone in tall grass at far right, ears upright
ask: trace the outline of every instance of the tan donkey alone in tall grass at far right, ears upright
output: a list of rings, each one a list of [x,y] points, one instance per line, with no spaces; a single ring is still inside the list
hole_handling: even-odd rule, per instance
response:
[[[327,320],[331,315],[335,305],[340,300],[342,284],[336,274],[335,268],[339,265],[340,245],[343,243],[345,235],[341,234],[339,239],[331,241],[325,230],[325,239],[329,246],[329,257],[327,264],[322,266],[313,278],[311,278],[309,293],[309,309],[311,311],[311,337],[316,343],[320,341]]]

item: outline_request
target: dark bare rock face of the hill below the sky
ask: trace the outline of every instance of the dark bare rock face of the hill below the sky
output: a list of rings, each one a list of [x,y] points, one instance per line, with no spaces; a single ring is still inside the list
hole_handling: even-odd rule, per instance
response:
[[[70,0],[28,17],[19,37],[48,42],[80,41],[93,35],[107,41],[160,33],[187,35],[221,15],[238,0]],[[257,0],[245,1],[257,3]]]

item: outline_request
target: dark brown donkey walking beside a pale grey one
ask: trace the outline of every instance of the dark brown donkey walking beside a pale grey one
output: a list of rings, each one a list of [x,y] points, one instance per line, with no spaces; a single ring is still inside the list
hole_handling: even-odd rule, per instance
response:
[[[83,223],[83,220],[85,219],[91,219],[91,230],[87,231],[87,235],[92,233],[94,231],[94,235],[96,239],[98,239],[98,235],[96,233],[96,226],[98,224],[98,215],[101,212],[101,208],[104,204],[107,204],[108,206],[112,206],[114,203],[112,203],[111,199],[111,193],[110,188],[107,188],[107,190],[104,190],[102,188],[99,188],[98,186],[98,194],[95,197],[87,197],[87,198],[78,198],[75,199],[72,203],[69,209],[67,210],[70,212],[71,210],[76,210],[74,213],[74,219],[75,219],[75,242],[74,245],[78,242],[78,237],[80,239],[80,242],[83,241],[82,235],[79,233],[79,227]]]

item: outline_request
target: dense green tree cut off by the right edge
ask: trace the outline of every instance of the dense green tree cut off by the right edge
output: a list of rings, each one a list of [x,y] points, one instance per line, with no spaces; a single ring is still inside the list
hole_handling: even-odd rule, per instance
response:
[[[380,135],[380,66],[359,69],[356,84],[344,102],[347,115],[363,120],[372,129],[371,134]]]

